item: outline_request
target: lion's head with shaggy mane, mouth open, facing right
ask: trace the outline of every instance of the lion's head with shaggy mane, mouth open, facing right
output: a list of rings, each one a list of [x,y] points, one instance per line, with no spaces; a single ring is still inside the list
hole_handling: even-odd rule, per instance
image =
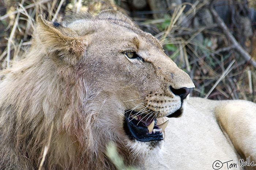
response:
[[[46,169],[111,168],[110,141],[127,164],[157,155],[168,123],[159,118],[180,116],[194,88],[156,38],[111,10],[62,24],[39,16],[25,59],[0,76],[0,136],[15,136],[0,142],[12,152],[0,151],[2,166],[24,169],[38,166],[51,122]]]

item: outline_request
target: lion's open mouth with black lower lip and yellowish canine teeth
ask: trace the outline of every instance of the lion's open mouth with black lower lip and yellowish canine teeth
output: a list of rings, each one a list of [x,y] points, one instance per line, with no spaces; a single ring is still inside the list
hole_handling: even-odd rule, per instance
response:
[[[153,116],[137,115],[136,112],[125,114],[124,129],[131,139],[139,141],[160,141],[163,140],[163,131],[169,120],[157,125],[157,119]]]

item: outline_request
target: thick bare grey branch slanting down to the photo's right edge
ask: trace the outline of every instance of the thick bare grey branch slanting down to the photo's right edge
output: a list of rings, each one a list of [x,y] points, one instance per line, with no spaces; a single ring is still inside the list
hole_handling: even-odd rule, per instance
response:
[[[253,65],[253,67],[256,67],[256,61],[250,56],[250,54],[248,54],[243,48],[242,46],[236,41],[236,39],[234,38],[234,36],[230,33],[229,29],[227,28],[226,24],[223,22],[223,20],[221,19],[221,17],[218,15],[218,13],[215,11],[215,9],[213,8],[213,6],[211,5],[210,7],[211,13],[214,16],[214,18],[216,19],[217,23],[219,24],[219,26],[221,27],[221,29],[223,30],[223,32],[226,34],[226,36],[229,38],[229,40],[231,41],[231,43],[236,47],[236,50],[245,58],[246,61],[248,61],[251,65]]]

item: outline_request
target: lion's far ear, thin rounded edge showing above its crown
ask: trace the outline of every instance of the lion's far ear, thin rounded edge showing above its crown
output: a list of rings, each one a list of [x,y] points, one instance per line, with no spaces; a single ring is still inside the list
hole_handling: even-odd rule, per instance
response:
[[[101,11],[101,12],[99,12],[98,15],[96,15],[96,18],[98,18],[98,19],[121,20],[123,22],[127,22],[127,23],[129,23],[131,25],[134,25],[132,20],[130,20],[127,16],[125,16],[121,12],[115,11],[115,10],[104,10],[104,11]]]

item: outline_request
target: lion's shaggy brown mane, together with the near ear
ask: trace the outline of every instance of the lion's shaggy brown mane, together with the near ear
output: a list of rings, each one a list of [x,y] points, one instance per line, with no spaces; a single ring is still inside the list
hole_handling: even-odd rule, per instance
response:
[[[105,136],[94,126],[92,100],[97,89],[84,80],[86,72],[79,69],[82,64],[75,63],[79,58],[74,60],[82,55],[86,42],[73,32],[71,38],[66,36],[71,33],[61,35],[61,28],[46,32],[52,26],[42,26],[45,21],[41,18],[38,22],[25,59],[0,72],[0,169],[37,169],[52,122],[45,169],[113,169],[98,140]],[[65,57],[61,59],[65,63],[56,58],[57,50],[64,51],[58,55]]]

